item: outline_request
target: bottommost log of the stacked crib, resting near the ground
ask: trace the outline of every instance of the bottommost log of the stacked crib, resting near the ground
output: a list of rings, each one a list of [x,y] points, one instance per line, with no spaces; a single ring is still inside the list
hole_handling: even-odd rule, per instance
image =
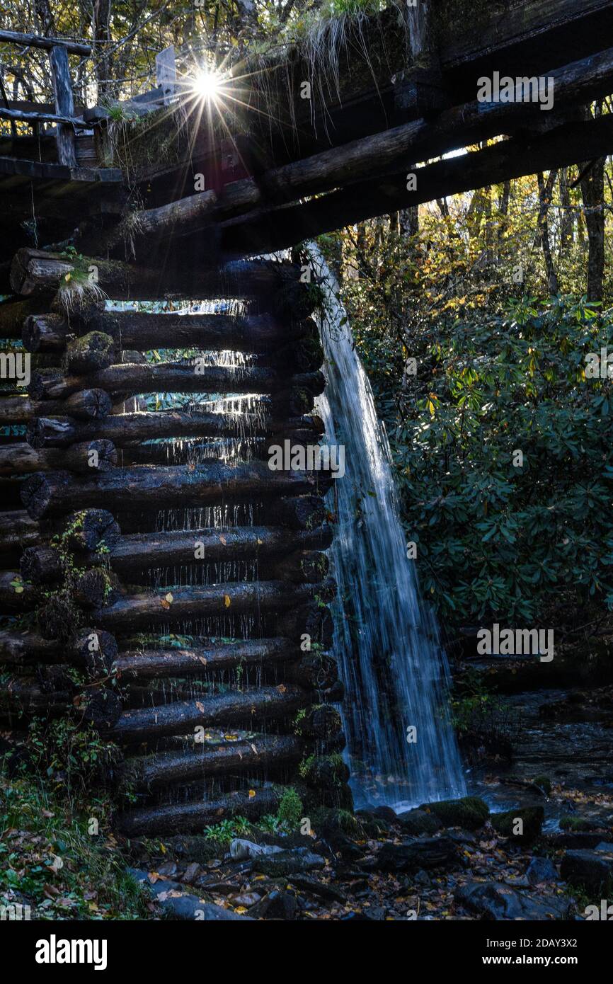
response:
[[[173,803],[167,806],[151,806],[130,810],[122,814],[117,825],[126,836],[202,832],[208,825],[235,815],[256,820],[266,814],[275,814],[282,795],[280,787],[256,789],[256,795],[231,793],[216,800]]]

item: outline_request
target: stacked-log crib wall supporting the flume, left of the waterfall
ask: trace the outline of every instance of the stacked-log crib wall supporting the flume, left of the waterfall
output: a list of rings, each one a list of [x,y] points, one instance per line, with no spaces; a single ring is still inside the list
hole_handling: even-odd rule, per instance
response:
[[[52,291],[66,266],[24,250],[13,263],[14,288],[39,304],[17,302],[25,349],[59,361],[0,405],[18,427],[0,474],[20,500],[0,540],[0,718],[72,714],[115,742],[130,835],[257,818],[286,786],[316,803],[304,763],[343,745],[329,703],[332,478],[268,461],[272,443],[325,437],[299,267],[207,270],[181,292],[227,304],[177,314],[99,299],[65,312]],[[103,270],[111,298],[128,283],[155,296],[154,269],[118,267]]]

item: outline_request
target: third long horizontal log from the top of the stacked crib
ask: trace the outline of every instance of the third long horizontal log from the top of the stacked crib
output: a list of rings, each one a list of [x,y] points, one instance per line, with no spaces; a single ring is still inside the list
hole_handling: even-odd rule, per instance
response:
[[[41,369],[31,373],[28,392],[33,400],[66,400],[88,386],[126,397],[137,393],[171,392],[270,394],[289,388],[307,390],[319,396],[325,385],[321,372],[297,373],[287,380],[275,369],[203,366],[197,359],[189,363],[123,362],[88,376],[66,376],[61,370]]]

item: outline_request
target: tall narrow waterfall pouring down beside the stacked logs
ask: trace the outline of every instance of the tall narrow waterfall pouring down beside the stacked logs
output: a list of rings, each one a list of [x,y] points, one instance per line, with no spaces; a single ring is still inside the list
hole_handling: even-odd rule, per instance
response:
[[[356,806],[398,808],[461,796],[460,755],[447,714],[449,669],[432,615],[407,560],[390,446],[377,418],[337,284],[315,244],[324,291],[320,318],[326,440],[344,445],[345,474],[330,493],[338,593],[335,652]]]

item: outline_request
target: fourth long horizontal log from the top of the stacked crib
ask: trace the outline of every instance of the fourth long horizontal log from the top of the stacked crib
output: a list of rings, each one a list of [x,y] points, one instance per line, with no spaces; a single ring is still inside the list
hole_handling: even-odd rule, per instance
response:
[[[67,448],[96,438],[112,441],[117,447],[129,447],[155,438],[238,438],[247,435],[275,435],[278,438],[299,435],[317,444],[317,438],[323,433],[324,424],[318,416],[274,419],[255,413],[159,410],[112,414],[88,422],[70,417],[36,417],[29,423],[26,436],[32,448]]]

